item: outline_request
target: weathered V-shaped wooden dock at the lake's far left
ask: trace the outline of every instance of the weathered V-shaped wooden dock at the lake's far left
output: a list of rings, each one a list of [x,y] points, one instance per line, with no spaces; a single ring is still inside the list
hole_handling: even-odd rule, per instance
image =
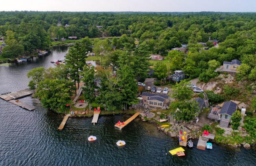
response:
[[[25,102],[20,102],[19,100],[16,100],[17,101],[16,102],[15,99],[26,97],[26,96],[29,96],[29,95],[31,95],[33,93],[34,93],[33,90],[24,89],[24,90],[21,90],[21,91],[0,95],[0,98],[4,99],[5,101],[10,102],[12,104],[18,105],[21,108],[28,109],[28,110],[32,111],[32,110],[36,109],[36,107],[34,107],[32,105],[29,105],[29,104],[27,104]]]

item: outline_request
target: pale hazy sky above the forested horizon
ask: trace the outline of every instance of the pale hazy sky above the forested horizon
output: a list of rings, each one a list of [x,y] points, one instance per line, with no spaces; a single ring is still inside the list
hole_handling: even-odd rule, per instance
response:
[[[256,12],[256,0],[3,0],[0,11]]]

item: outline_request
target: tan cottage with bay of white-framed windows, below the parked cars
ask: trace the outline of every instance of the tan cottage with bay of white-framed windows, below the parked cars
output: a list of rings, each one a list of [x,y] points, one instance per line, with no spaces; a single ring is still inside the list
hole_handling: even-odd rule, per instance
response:
[[[154,94],[142,92],[144,106],[150,106],[152,109],[168,109],[169,96],[164,94]]]

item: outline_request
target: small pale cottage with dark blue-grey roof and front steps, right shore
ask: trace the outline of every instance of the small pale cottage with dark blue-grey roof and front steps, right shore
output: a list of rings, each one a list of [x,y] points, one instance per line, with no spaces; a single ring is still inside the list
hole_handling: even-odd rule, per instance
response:
[[[221,127],[228,127],[232,114],[236,111],[237,104],[231,101],[224,102],[219,113]]]

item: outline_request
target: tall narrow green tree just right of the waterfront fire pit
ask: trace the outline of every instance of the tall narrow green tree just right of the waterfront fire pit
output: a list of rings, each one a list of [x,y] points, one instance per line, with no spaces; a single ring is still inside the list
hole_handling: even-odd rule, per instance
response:
[[[85,101],[89,103],[89,109],[91,110],[91,104],[95,100],[95,83],[94,83],[94,69],[88,68],[86,65],[84,66],[84,71],[82,75],[84,78],[82,79],[84,81],[84,87],[83,87],[83,96],[85,98]]]

